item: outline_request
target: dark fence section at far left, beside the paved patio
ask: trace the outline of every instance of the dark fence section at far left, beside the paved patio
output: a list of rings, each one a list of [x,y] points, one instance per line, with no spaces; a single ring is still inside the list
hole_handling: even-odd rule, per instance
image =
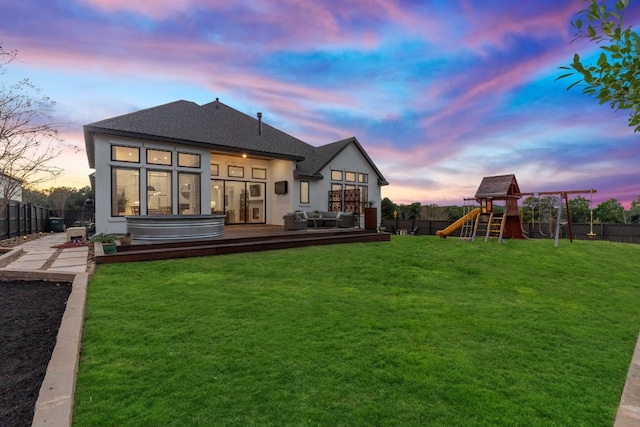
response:
[[[48,208],[11,201],[0,215],[0,239],[49,231]]]

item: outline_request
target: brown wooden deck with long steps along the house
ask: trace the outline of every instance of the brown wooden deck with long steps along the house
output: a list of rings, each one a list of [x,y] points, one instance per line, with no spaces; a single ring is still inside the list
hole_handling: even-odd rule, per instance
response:
[[[223,255],[290,249],[305,246],[362,242],[388,242],[388,233],[376,233],[358,228],[308,228],[284,230],[273,225],[225,226],[224,236],[190,242],[141,243],[118,246],[115,254],[96,254],[97,264],[150,261],[171,258]]]

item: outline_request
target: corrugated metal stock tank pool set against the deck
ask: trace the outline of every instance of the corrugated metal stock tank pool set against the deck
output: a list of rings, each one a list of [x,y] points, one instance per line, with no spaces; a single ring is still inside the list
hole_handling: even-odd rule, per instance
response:
[[[133,215],[125,217],[134,240],[202,240],[224,234],[224,215]]]

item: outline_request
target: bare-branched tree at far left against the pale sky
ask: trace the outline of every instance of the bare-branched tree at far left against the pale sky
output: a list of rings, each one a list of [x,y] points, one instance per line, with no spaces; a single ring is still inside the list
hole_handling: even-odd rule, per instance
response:
[[[55,102],[29,79],[9,84],[2,76],[17,57],[0,44],[0,212],[23,186],[62,173],[49,165],[60,154],[62,138],[50,113]]]

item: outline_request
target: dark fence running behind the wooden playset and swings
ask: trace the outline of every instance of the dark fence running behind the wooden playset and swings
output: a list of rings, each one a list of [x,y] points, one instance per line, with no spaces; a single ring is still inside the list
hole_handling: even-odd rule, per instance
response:
[[[403,229],[412,231],[418,227],[416,234],[432,236],[436,234],[436,231],[443,230],[452,224],[452,221],[383,219],[382,224],[385,226],[385,230],[391,233],[395,233]],[[588,234],[591,230],[591,226],[589,224],[571,224],[571,226],[573,238],[575,240],[590,240]],[[555,223],[524,223],[522,224],[522,228],[525,235],[530,239],[555,238]],[[591,240],[640,244],[640,224],[593,224],[593,232],[595,233],[595,237]],[[458,237],[459,235],[460,230],[457,230],[452,233],[450,237]],[[563,239],[569,238],[569,231],[566,224],[560,226],[560,237]]]

